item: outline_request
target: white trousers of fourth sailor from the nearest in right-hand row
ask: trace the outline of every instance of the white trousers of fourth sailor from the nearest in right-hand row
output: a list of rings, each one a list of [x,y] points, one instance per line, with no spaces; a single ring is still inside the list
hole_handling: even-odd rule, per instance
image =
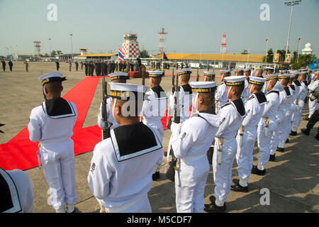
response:
[[[265,136],[265,123],[264,118],[259,122],[257,128],[257,140],[258,140],[258,148],[259,148],[259,159],[258,165],[262,165],[266,167],[267,162],[269,161],[270,156],[270,140],[272,138],[272,133],[276,129],[276,120],[269,119],[269,127],[267,136]]]

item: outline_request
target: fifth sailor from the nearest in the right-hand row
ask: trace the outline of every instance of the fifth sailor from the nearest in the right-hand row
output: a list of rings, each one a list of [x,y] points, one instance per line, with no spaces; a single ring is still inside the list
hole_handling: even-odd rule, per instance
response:
[[[279,145],[276,151],[284,152],[284,147],[286,140],[291,132],[291,104],[294,101],[293,96],[293,89],[291,89],[290,85],[292,83],[291,74],[282,74],[278,76],[279,81],[281,82],[282,86],[284,87],[283,93],[286,93],[286,101],[284,101],[283,106],[280,106],[285,113],[284,119],[282,120],[280,126],[278,127],[278,135],[279,135]]]

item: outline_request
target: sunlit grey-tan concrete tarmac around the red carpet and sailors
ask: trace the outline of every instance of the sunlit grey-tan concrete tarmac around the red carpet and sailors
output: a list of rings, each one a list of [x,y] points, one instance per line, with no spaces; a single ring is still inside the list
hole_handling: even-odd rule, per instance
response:
[[[212,70],[212,69],[211,69]],[[26,72],[23,62],[13,62],[13,72],[6,66],[6,72],[0,69],[0,123],[6,124],[0,129],[4,134],[0,134],[0,143],[7,143],[14,135],[19,133],[28,125],[31,110],[43,102],[42,86],[38,77],[47,72],[56,71],[55,62],[29,62],[28,72]],[[176,69],[174,70],[176,74]],[[63,82],[64,91],[62,95],[69,91],[75,84],[84,79],[84,67],[75,71],[72,64],[72,72],[69,72],[69,65],[60,62],[60,72],[67,77]],[[219,70],[215,70],[216,77]],[[171,70],[165,70],[166,74],[172,74]],[[193,69],[193,76],[197,70]],[[199,70],[203,74],[203,70]],[[196,77],[191,77],[191,81]],[[109,82],[110,79],[106,78]],[[220,79],[216,79],[220,84]],[[142,79],[131,79],[130,83],[142,84]],[[145,79],[148,84],[148,79]],[[172,89],[172,77],[162,79],[161,86],[165,91]],[[94,126],[97,122],[99,105],[101,103],[102,86],[98,84],[91,106],[86,115],[83,127]],[[303,109],[303,116],[308,115],[308,104]],[[318,213],[319,211],[319,143],[314,138],[316,130],[310,132],[309,136],[303,135],[301,128],[306,127],[306,121],[301,120],[298,128],[298,135],[289,136],[289,143],[286,143],[284,153],[276,153],[276,162],[268,162],[267,172],[264,176],[251,175],[249,180],[249,192],[232,192],[228,195],[226,212],[230,213]],[[315,126],[318,127],[318,124]],[[164,131],[163,150],[167,150],[171,131]],[[254,148],[254,165],[257,165],[257,143]],[[95,213],[97,201],[91,194],[87,176],[90,169],[92,152],[77,155],[75,157],[75,177],[77,184],[78,200],[75,204],[77,213]],[[152,212],[154,213],[174,213],[175,189],[174,182],[171,182],[164,175],[164,165],[160,170],[160,178],[153,182],[152,189],[148,193]],[[233,179],[238,178],[237,164],[234,161]],[[47,189],[49,188],[45,180],[43,169],[35,167],[26,170],[34,192],[34,212],[53,213],[52,206],[47,204]],[[208,175],[205,188],[205,203],[209,203],[209,196],[213,194],[215,184],[213,182],[213,171]],[[264,204],[265,197],[269,192],[269,203]]]

